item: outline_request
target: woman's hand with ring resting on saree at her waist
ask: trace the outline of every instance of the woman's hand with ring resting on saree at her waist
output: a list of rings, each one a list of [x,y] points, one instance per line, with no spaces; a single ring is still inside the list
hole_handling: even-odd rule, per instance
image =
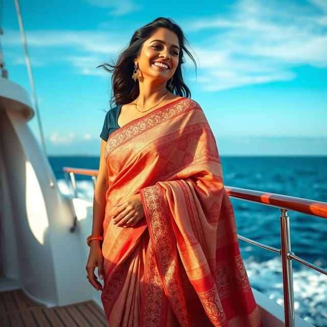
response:
[[[141,194],[134,194],[127,200],[116,204],[109,216],[117,226],[130,227],[137,224],[145,216]]]

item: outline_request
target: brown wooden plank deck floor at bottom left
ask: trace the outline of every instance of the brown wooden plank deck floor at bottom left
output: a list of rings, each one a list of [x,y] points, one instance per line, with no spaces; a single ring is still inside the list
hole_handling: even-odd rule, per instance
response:
[[[46,308],[28,298],[21,289],[0,292],[2,327],[107,327],[108,321],[96,302]]]

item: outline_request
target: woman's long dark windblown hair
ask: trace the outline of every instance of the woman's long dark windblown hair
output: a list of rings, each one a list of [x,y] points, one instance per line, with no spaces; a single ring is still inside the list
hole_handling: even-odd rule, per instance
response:
[[[185,48],[185,43],[190,43],[184,36],[182,29],[175,24],[171,18],[158,17],[134,32],[128,47],[119,55],[116,65],[114,63],[112,65],[105,63],[98,66],[103,67],[107,72],[113,72],[111,77],[113,96],[111,97],[110,104],[115,103],[119,105],[130,103],[139,95],[139,85],[132,79],[132,74],[135,69],[134,59],[141,53],[145,40],[150,38],[159,28],[171,30],[177,35],[179,41],[179,61],[173,75],[172,84],[174,88],[172,92],[180,97],[191,97],[191,91],[185,85],[181,71],[181,64],[185,63],[183,57],[183,52],[185,51],[194,62],[196,72],[196,62],[188,49]],[[112,69],[109,67],[112,67]],[[168,87],[169,82],[170,80],[167,81],[166,87]]]

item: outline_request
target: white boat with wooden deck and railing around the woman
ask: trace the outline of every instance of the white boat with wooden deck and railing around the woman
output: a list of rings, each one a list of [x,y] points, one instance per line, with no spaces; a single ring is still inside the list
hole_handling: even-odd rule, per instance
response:
[[[75,181],[75,175],[82,174],[92,176],[95,183],[97,171],[64,168],[74,192],[60,192],[48,156],[28,126],[30,120],[37,119],[36,103],[25,88],[10,81],[3,56],[1,60],[0,321],[3,326],[89,326],[90,321],[92,326],[107,325],[101,292],[86,279],[92,202],[78,198]],[[323,219],[327,218],[327,203],[225,188],[230,197],[281,210],[281,248],[239,236],[281,255],[284,306],[252,288],[264,327],[312,327],[294,313],[292,261],[327,272],[291,251],[288,211]]]

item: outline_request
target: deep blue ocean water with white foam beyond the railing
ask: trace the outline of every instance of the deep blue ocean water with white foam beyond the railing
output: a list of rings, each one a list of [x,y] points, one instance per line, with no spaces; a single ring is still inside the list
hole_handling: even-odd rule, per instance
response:
[[[63,167],[99,168],[99,157],[50,156],[63,194],[72,194]],[[327,157],[221,156],[224,185],[327,202]],[[93,199],[90,177],[76,175],[78,196]],[[277,207],[231,198],[238,234],[281,248]],[[295,255],[327,269],[327,219],[288,212],[291,249]],[[281,256],[239,240],[251,286],[283,301]],[[327,276],[293,261],[295,314],[317,327],[327,327]]]

